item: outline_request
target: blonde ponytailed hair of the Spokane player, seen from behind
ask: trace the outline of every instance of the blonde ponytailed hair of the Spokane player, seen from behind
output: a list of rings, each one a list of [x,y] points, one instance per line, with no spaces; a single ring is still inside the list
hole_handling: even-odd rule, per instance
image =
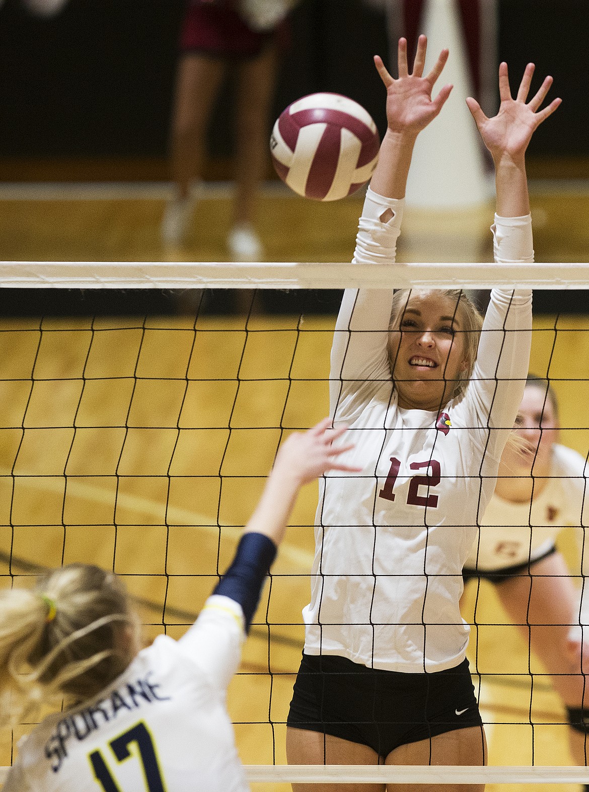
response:
[[[127,668],[137,630],[124,584],[97,566],[70,564],[32,590],[0,591],[0,720],[97,695]]]

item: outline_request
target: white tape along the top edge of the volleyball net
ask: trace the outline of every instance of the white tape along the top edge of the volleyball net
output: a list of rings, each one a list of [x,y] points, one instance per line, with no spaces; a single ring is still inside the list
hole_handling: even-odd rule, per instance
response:
[[[265,264],[129,261],[3,261],[0,287],[333,289],[589,287],[580,264]]]

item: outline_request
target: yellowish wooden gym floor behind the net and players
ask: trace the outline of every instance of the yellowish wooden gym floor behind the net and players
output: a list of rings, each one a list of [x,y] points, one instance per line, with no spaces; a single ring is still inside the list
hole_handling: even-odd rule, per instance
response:
[[[158,190],[125,189],[0,189],[2,258],[226,260],[230,200],[222,190],[199,204],[188,245],[164,251]],[[360,208],[358,199],[314,204],[272,188],[259,212],[268,260],[348,261]],[[534,192],[538,261],[586,260],[588,209],[584,189]],[[399,258],[488,261],[491,221],[491,208],[453,217],[408,212]],[[244,297],[242,307],[247,303]],[[29,584],[36,569],[62,562],[114,565],[138,598],[147,640],[164,623],[179,636],[199,611],[257,501],[281,437],[276,427],[308,426],[328,410],[333,316],[306,316],[298,326],[298,316],[254,313],[246,333],[241,315],[195,323],[186,301],[180,309],[168,317],[0,319],[2,584],[10,584],[10,573]],[[562,441],[587,455],[589,316],[560,318],[556,341],[553,316],[537,317],[534,327],[530,370],[547,371],[552,354],[551,376],[587,380],[556,384]],[[285,761],[316,500],[316,485],[307,486],[230,686],[245,763]],[[574,565],[572,531],[561,543]],[[471,613],[474,594],[474,586],[467,589]],[[534,683],[532,730],[530,679],[519,676],[526,675],[527,647],[485,583],[477,623],[490,763],[531,763],[534,740],[534,763],[570,764],[565,727],[550,725],[564,721],[564,710],[543,679]],[[473,639],[472,668],[474,649]],[[0,765],[10,763],[13,744],[30,728],[0,731]]]

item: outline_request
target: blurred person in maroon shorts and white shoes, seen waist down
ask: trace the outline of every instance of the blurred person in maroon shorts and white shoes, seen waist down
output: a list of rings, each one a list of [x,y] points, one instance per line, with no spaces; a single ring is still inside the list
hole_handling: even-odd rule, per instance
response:
[[[283,3],[275,5],[283,6]],[[259,261],[264,251],[253,227],[257,188],[268,166],[268,116],[276,78],[280,23],[257,30],[232,2],[192,0],[180,40],[173,110],[172,169],[176,195],[165,208],[161,239],[180,245],[192,220],[197,184],[203,171],[207,126],[222,81],[238,67],[235,109],[237,192],[227,247],[236,261]],[[272,0],[268,2],[272,6]]]

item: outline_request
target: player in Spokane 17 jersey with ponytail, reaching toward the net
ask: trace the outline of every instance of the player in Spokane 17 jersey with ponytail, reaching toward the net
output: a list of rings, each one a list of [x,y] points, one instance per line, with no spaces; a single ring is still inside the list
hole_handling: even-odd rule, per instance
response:
[[[340,461],[326,418],[279,449],[234,561],[183,638],[139,651],[139,618],[120,578],[56,569],[33,590],[0,592],[0,714],[69,701],[19,750],[4,792],[102,788],[247,790],[225,709],[241,643],[301,485]],[[128,759],[131,760],[127,761]]]

